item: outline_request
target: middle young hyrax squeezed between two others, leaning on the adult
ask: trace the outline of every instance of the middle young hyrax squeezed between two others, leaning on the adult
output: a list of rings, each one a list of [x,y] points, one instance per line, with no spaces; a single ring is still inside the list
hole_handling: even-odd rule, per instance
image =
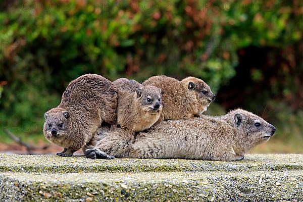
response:
[[[113,82],[118,90],[117,120],[121,128],[139,132],[150,128],[162,112],[161,89],[120,78]]]

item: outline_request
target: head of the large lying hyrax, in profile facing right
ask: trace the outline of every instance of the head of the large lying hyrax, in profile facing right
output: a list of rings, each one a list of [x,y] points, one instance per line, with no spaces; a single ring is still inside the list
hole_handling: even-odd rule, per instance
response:
[[[257,145],[269,140],[275,134],[276,128],[261,117],[245,110],[233,110],[227,117],[233,120],[234,127],[243,134],[243,141]]]

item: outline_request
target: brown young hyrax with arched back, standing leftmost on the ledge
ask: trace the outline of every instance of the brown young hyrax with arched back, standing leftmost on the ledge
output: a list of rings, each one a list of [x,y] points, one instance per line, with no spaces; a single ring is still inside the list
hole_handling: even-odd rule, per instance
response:
[[[118,94],[108,79],[85,74],[71,81],[61,103],[44,114],[44,136],[64,147],[57,155],[72,156],[85,146],[100,124],[116,124]]]

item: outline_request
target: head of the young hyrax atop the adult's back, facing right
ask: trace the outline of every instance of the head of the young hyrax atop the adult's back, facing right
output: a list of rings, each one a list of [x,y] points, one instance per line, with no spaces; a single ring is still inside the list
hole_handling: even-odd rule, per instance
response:
[[[199,112],[199,114],[205,112],[211,102],[216,98],[216,95],[212,92],[210,86],[201,79],[187,77],[181,82],[186,85],[188,90],[195,94],[199,104],[203,107],[203,110]]]

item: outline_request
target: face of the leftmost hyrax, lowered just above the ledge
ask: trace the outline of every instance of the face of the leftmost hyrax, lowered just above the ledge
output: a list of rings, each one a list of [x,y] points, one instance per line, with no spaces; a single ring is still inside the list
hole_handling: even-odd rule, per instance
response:
[[[47,140],[60,143],[68,134],[67,120],[70,115],[62,108],[54,108],[44,114],[44,136]]]

